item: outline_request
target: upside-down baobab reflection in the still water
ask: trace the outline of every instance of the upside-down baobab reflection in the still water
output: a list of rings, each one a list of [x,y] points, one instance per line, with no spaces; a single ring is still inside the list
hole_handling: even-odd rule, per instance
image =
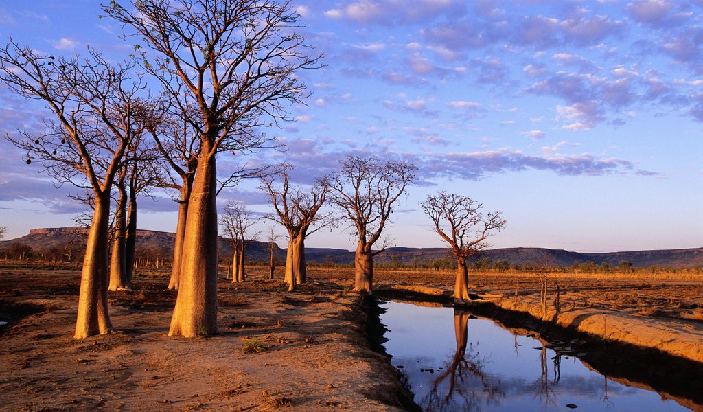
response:
[[[481,411],[484,403],[497,404],[505,396],[500,380],[487,378],[475,347],[470,345],[467,351],[469,318],[467,311],[454,309],[456,352],[420,402],[425,411]]]

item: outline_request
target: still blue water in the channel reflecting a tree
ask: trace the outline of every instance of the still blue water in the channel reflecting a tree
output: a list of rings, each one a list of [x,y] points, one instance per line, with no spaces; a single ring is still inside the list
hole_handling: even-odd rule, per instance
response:
[[[489,319],[447,307],[381,306],[386,352],[424,411],[690,411]]]

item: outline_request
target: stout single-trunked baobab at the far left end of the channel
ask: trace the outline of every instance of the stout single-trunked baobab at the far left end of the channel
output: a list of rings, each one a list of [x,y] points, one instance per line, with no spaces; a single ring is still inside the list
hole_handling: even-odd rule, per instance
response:
[[[378,250],[373,246],[389,224],[396,201],[415,180],[417,169],[404,161],[349,156],[342,160],[339,172],[325,178],[330,202],[340,217],[349,221],[353,236],[359,238],[354,255],[354,290],[371,292],[373,257],[385,250],[388,238]]]

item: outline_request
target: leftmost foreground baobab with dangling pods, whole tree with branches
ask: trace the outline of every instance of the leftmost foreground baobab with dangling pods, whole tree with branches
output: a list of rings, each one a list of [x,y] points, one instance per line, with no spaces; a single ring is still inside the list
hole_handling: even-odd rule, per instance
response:
[[[6,138],[39,160],[58,184],[89,189],[95,207],[86,244],[78,298],[76,339],[110,333],[108,238],[110,192],[129,145],[143,126],[135,110],[141,85],[130,78],[134,63],[110,65],[88,50],[84,59],[63,58],[22,47],[12,39],[0,47],[0,84],[25,98],[43,101],[52,112],[39,134]]]

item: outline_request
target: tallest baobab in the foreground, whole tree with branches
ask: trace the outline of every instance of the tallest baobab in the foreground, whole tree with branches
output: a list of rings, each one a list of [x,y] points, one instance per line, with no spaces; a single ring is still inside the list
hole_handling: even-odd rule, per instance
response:
[[[308,96],[298,70],[316,67],[288,3],[241,0],[112,1],[153,76],[195,130],[200,152],[188,198],[179,294],[169,335],[217,332],[217,154],[265,147],[260,127],[291,120]],[[195,108],[195,110],[191,110]],[[193,115],[193,112],[196,114]]]

